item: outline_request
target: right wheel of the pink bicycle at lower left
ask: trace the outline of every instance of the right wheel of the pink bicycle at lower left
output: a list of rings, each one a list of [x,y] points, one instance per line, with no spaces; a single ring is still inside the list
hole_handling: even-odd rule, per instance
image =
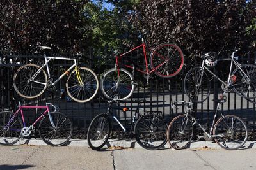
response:
[[[49,114],[49,113],[48,113]],[[73,133],[71,120],[63,113],[52,112],[50,120],[49,115],[42,118],[39,124],[39,134],[42,140],[51,146],[63,146],[68,143]],[[54,126],[52,125],[54,124]]]

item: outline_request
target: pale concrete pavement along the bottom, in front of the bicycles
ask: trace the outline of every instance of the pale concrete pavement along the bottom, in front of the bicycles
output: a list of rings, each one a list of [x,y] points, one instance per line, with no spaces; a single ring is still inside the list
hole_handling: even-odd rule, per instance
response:
[[[42,145],[0,146],[0,169],[256,169],[255,148],[187,150]]]

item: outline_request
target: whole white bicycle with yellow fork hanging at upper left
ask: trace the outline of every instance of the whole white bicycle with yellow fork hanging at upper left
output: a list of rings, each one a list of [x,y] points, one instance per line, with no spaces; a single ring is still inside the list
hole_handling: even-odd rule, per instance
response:
[[[39,46],[42,50],[51,50],[47,46]],[[36,64],[26,64],[21,66],[13,76],[13,87],[15,91],[26,99],[33,99],[45,91],[45,89],[56,89],[56,83],[61,80],[65,75],[68,76],[66,81],[66,89],[68,96],[77,102],[88,102],[95,95],[99,89],[99,80],[96,74],[87,67],[79,67],[77,58],[65,57],[49,57],[44,53],[45,63],[43,66]],[[74,64],[70,66],[59,78],[53,80],[49,71],[48,63],[51,60],[72,60]],[[47,74],[44,71],[47,69]]]

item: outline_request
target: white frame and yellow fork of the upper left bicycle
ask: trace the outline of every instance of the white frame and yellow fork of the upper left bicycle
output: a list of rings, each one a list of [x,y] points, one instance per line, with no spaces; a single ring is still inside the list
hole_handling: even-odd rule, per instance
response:
[[[46,85],[47,83],[42,83],[42,82],[38,82],[38,81],[35,81],[33,80],[39,73],[42,69],[44,69],[44,67],[46,66],[47,68],[47,75],[48,75],[48,78],[51,78],[51,73],[49,71],[49,66],[48,66],[48,63],[52,60],[52,59],[56,59],[56,60],[73,60],[74,61],[74,64],[72,66],[70,66],[67,71],[65,71],[63,74],[61,74],[61,76],[55,80],[53,82],[53,84],[55,85],[56,83],[58,83],[58,81],[61,80],[61,78],[63,78],[63,76],[67,75],[70,73],[70,71],[75,67],[75,70],[76,70],[76,76],[77,76],[77,80],[79,81],[79,83],[82,85],[83,82],[81,80],[81,76],[80,76],[80,73],[77,69],[77,62],[76,62],[76,59],[70,59],[70,58],[65,58],[65,57],[47,57],[46,55],[44,55],[44,59],[45,59],[45,64],[40,67],[40,69],[38,69],[38,71],[36,71],[36,73],[34,74],[34,76],[31,77],[31,79],[29,81],[33,81],[35,83],[39,83],[39,84],[42,84],[42,85]]]

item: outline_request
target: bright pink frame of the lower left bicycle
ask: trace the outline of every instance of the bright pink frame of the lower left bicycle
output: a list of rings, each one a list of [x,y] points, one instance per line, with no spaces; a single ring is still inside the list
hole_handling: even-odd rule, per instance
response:
[[[14,113],[14,115],[12,116],[12,118],[10,118],[8,124],[6,124],[6,127],[8,127],[8,126],[12,123],[13,118],[17,117],[17,115],[19,114],[19,112],[20,112],[20,114],[21,114],[22,123],[23,123],[24,127],[26,127],[26,123],[25,123],[25,120],[24,120],[24,115],[23,115],[22,109],[45,109],[44,113],[41,113],[41,116],[38,117],[38,118],[35,120],[35,122],[33,122],[33,124],[30,125],[29,128],[33,129],[34,125],[35,125],[39,120],[41,120],[43,117],[45,117],[45,115],[46,115],[47,113],[48,113],[48,115],[49,115],[49,119],[50,119],[50,122],[51,122],[52,127],[55,128],[55,125],[54,125],[54,122],[53,122],[53,120],[52,120],[51,112],[49,111],[49,106],[48,106],[48,105],[53,106],[53,107],[54,107],[54,111],[57,110],[57,109],[56,109],[56,106],[52,105],[51,103],[46,103],[46,106],[21,106],[21,104],[19,103],[19,108],[18,108],[18,110]],[[54,112],[54,111],[53,111],[53,112]]]

